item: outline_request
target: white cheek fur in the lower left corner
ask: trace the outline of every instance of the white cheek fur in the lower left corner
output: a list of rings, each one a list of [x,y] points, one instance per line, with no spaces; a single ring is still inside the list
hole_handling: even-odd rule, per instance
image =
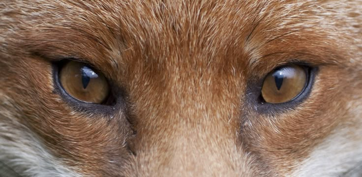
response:
[[[4,104],[4,101],[0,102],[0,105]],[[81,177],[64,167],[60,159],[44,148],[34,133],[13,116],[0,109],[0,162],[22,177]]]

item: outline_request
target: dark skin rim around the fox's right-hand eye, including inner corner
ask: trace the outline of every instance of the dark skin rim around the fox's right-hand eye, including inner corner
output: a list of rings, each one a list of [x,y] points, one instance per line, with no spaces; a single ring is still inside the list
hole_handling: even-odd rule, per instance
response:
[[[274,104],[263,101],[263,99],[261,99],[261,90],[267,75],[277,68],[285,67],[288,65],[298,65],[301,67],[305,67],[308,70],[308,78],[304,89],[301,91],[300,94],[287,102]],[[318,71],[318,66],[306,62],[297,61],[277,66],[266,75],[264,75],[262,78],[258,76],[251,77],[247,81],[245,104],[248,105],[249,109],[258,112],[259,114],[274,115],[283,113],[286,110],[293,110],[309,97],[313,89],[315,77],[318,74]]]

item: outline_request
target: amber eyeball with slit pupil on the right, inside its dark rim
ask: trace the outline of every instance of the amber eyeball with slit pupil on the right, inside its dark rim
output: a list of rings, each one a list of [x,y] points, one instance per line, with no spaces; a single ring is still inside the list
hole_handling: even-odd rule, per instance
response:
[[[298,65],[280,67],[267,75],[262,87],[262,97],[268,103],[285,103],[298,97],[308,81],[306,69]]]

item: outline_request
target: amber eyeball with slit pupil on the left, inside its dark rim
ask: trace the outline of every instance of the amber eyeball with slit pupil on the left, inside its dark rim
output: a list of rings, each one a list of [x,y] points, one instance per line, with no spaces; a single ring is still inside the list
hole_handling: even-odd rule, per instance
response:
[[[102,103],[110,88],[103,74],[82,62],[69,61],[60,68],[60,84],[73,98],[88,103]]]

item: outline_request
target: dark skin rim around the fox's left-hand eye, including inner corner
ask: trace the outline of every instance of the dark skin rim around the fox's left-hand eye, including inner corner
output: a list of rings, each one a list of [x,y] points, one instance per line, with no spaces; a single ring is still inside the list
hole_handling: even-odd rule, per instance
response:
[[[77,98],[74,98],[73,96],[69,95],[65,91],[65,89],[62,87],[60,83],[60,69],[64,64],[66,64],[69,61],[79,61],[78,59],[61,59],[59,61],[52,62],[52,68],[53,68],[53,83],[54,83],[54,92],[61,96],[62,100],[73,107],[76,110],[84,111],[84,112],[92,112],[92,113],[99,113],[99,114],[107,114],[112,115],[115,111],[119,109],[124,109],[125,107],[125,101],[123,99],[123,96],[121,93],[124,93],[122,89],[115,86],[112,82],[108,81],[109,87],[110,87],[110,93],[108,95],[108,98],[105,99],[105,102],[102,102],[100,104],[98,103],[89,103],[82,100],[79,100]],[[91,64],[82,62],[85,65],[94,68]],[[95,69],[96,71],[99,71]],[[106,78],[107,79],[107,78]]]

